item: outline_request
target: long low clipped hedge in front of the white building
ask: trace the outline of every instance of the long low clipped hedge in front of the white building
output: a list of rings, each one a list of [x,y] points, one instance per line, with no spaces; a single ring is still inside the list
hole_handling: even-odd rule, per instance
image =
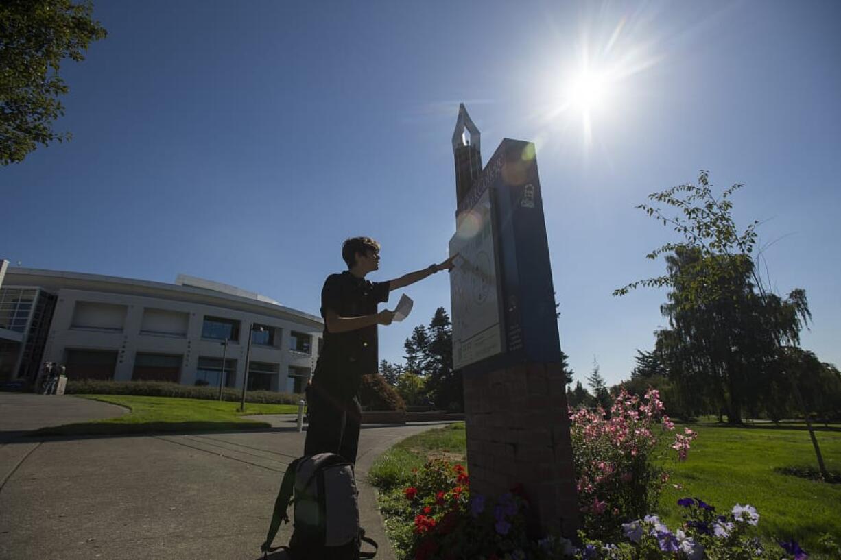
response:
[[[98,379],[68,379],[65,394],[130,394],[146,397],[178,397],[181,399],[218,400],[219,388],[196,387],[165,381],[102,381]],[[222,388],[222,400],[238,402],[241,389]],[[274,391],[248,391],[247,403],[298,404],[303,395]]]

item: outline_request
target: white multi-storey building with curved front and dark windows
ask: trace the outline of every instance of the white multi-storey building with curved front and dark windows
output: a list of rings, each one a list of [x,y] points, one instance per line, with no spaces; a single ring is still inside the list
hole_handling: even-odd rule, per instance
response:
[[[58,362],[71,379],[216,386],[225,355],[223,383],[241,388],[248,353],[249,390],[300,393],[315,369],[321,318],[257,293],[0,265],[0,382]]]

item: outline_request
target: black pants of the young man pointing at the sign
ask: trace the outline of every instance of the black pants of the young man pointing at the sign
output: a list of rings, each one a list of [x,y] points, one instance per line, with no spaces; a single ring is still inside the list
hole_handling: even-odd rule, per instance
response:
[[[362,407],[359,399],[337,398],[313,386],[307,405],[309,426],[304,443],[304,456],[336,453],[347,461],[357,462],[359,426]]]

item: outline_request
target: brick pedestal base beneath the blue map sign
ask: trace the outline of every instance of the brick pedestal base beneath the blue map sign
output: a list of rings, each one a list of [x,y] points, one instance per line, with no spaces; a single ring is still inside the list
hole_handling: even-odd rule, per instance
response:
[[[521,483],[543,533],[574,536],[578,503],[560,364],[464,376],[470,489],[500,496]]]

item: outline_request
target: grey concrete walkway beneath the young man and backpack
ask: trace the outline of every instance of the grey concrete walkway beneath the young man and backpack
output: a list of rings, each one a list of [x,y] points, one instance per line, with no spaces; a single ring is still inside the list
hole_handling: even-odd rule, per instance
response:
[[[123,413],[71,396],[0,394],[0,559],[260,557],[280,479],[304,447],[294,416],[262,416],[273,426],[265,431],[21,435]],[[379,542],[378,559],[391,560],[394,553],[368,469],[395,442],[438,425],[362,428],[360,515]],[[281,528],[276,546],[288,541],[290,530]]]

